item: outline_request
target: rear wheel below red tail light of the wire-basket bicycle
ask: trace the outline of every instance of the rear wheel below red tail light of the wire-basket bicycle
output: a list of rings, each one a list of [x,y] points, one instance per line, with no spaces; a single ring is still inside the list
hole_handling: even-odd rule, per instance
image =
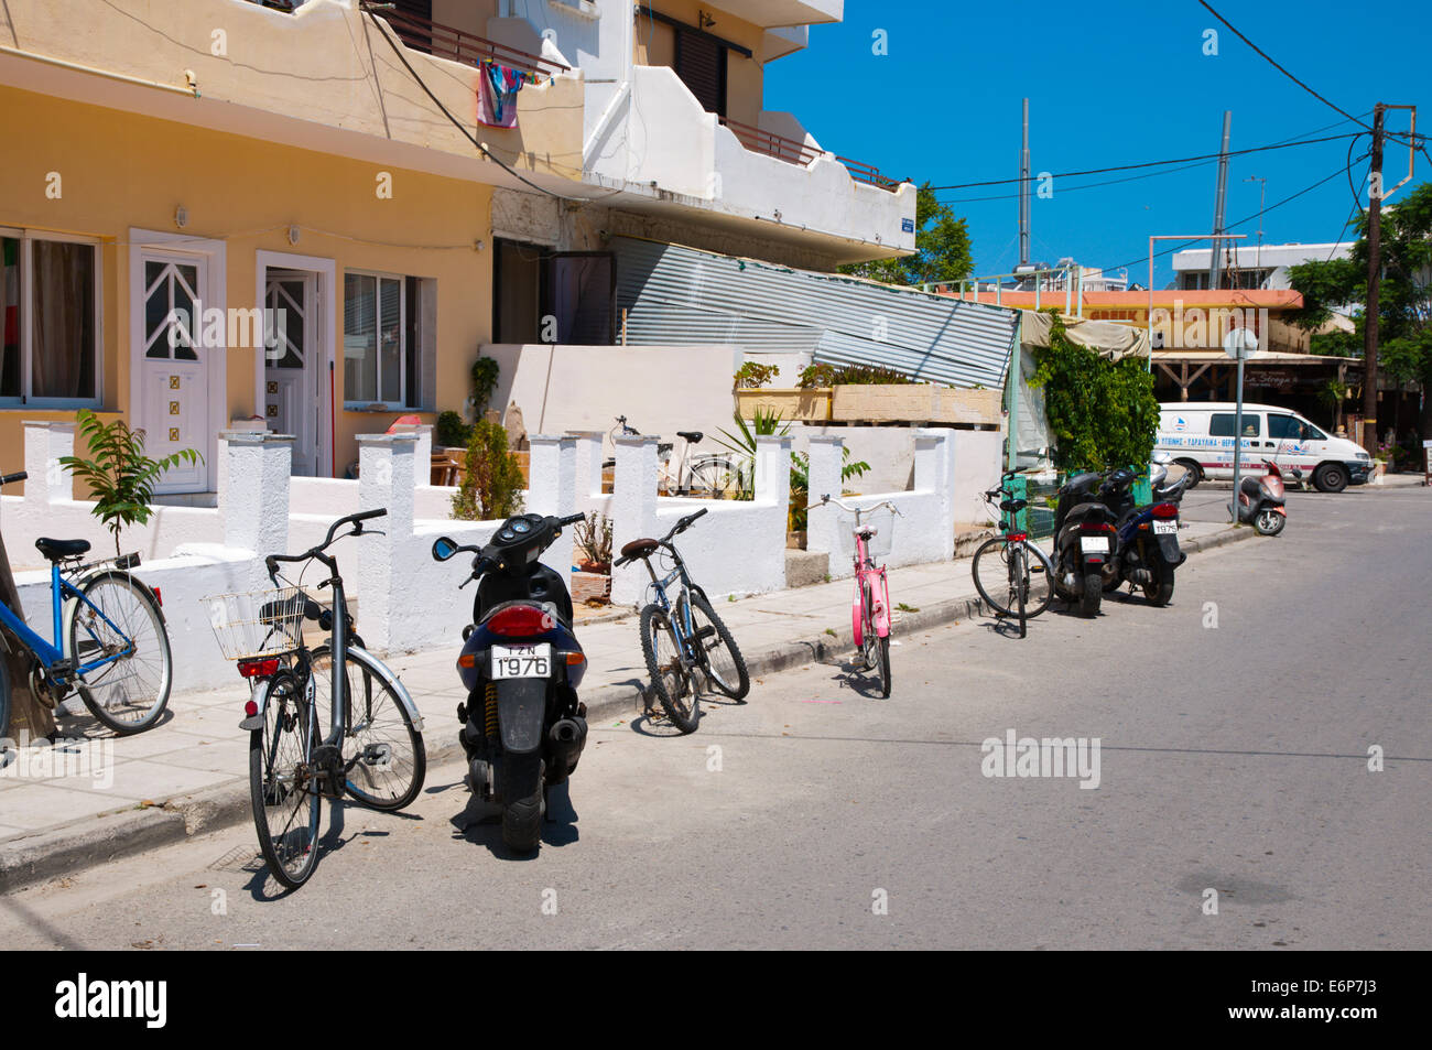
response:
[[[291,673],[269,679],[263,728],[249,733],[249,798],[259,851],[289,890],[308,881],[318,864],[322,799],[312,776],[318,716]]]

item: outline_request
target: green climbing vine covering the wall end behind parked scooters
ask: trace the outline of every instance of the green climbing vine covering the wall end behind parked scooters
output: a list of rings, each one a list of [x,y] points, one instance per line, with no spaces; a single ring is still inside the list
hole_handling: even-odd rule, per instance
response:
[[[1158,431],[1154,377],[1138,357],[1107,361],[1064,332],[1057,312],[1050,345],[1034,350],[1030,381],[1044,390],[1044,410],[1064,470],[1108,470],[1148,463]]]

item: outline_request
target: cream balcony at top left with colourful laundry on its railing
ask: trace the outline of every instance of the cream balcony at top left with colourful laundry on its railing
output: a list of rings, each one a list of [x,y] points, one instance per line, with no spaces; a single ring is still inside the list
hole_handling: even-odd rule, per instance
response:
[[[226,50],[211,46],[218,29]],[[518,188],[438,107],[470,122],[475,66],[497,62],[541,83],[517,96],[517,127],[484,127],[483,140],[523,178],[553,189],[580,178],[580,74],[392,10],[339,0],[6,0],[0,33],[0,83],[23,90]]]

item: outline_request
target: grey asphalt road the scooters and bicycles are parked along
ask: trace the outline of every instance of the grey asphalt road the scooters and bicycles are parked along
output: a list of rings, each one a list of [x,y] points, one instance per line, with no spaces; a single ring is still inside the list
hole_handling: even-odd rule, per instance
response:
[[[1432,493],[1290,510],[1279,539],[1194,556],[1167,609],[905,636],[888,700],[815,665],[693,736],[597,726],[533,859],[467,825],[447,766],[410,814],[347,809],[298,892],[239,827],[0,898],[0,940],[1429,948]],[[985,776],[981,742],[1008,731],[1098,738],[1098,786]]]

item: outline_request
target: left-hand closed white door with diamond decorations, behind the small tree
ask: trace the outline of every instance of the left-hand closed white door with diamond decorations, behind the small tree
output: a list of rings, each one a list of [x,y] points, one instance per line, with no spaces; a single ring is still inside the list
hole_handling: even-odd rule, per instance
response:
[[[192,448],[209,447],[209,357],[203,319],[195,317],[208,288],[208,258],[146,249],[137,367],[143,398],[140,425],[145,453],[162,460]],[[222,342],[222,337],[221,337]],[[202,493],[208,488],[208,463],[180,463],[165,471],[155,493]]]

